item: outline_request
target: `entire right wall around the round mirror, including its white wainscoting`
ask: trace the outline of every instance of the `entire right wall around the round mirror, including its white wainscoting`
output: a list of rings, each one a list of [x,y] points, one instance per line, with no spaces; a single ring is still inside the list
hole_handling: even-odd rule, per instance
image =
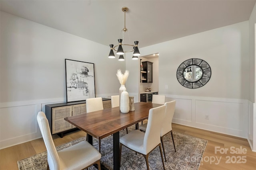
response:
[[[173,122],[247,138],[248,29],[244,21],[140,49],[143,55],[159,53],[159,93],[177,101]],[[178,66],[191,58],[212,69],[201,88],[185,88],[176,78]]]

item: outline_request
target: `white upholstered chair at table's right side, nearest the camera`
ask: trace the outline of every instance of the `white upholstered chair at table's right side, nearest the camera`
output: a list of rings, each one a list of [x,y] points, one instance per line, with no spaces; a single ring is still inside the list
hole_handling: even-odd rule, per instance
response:
[[[149,110],[148,128],[146,129],[145,133],[135,130],[120,138],[120,165],[122,157],[122,145],[142,154],[146,159],[147,170],[149,170],[148,155],[156,147],[159,147],[163,168],[165,170],[160,141],[161,126],[159,126],[164,120],[165,107],[166,106],[163,105]]]

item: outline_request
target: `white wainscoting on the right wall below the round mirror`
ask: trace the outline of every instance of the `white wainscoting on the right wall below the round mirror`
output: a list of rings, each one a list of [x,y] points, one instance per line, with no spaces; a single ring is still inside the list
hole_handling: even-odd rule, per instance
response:
[[[248,138],[248,100],[166,95],[172,100],[173,123]]]

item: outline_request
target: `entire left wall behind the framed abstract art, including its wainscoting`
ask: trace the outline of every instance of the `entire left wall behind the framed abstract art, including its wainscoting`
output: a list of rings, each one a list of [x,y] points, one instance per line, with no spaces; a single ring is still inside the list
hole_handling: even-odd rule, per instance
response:
[[[38,111],[66,102],[65,59],[94,63],[97,97],[119,94],[125,63],[108,46],[5,12],[0,22],[0,148],[41,137]]]

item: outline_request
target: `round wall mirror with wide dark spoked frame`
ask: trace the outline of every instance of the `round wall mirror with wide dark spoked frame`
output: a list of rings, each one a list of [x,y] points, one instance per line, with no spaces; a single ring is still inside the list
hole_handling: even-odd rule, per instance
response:
[[[188,59],[178,67],[177,79],[186,88],[199,88],[210,80],[211,73],[211,68],[206,61]]]

